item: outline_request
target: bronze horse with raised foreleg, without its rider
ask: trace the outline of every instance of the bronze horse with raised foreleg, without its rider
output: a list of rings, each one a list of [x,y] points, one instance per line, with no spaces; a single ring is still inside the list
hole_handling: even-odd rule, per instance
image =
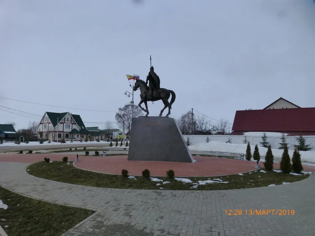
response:
[[[159,116],[162,115],[163,111],[168,107],[169,108],[169,113],[167,113],[166,117],[168,117],[171,114],[171,109],[172,109],[172,104],[175,101],[175,93],[172,90],[166,89],[166,88],[160,88],[158,91],[153,91],[152,93],[152,98],[149,98],[149,87],[146,85],[146,82],[143,80],[137,80],[135,82],[134,86],[134,91],[136,91],[138,88],[140,88],[140,98],[141,101],[138,104],[141,110],[146,112],[146,116],[149,115],[149,110],[148,110],[148,104],[147,101],[157,101],[157,100],[162,100],[164,103],[164,108],[161,110],[161,113]],[[172,94],[171,102],[169,103],[169,97]],[[141,104],[144,103],[146,105],[146,109],[141,107]]]

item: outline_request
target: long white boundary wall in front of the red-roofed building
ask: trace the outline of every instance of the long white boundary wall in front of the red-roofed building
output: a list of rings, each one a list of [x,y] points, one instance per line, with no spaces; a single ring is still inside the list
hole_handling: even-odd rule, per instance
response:
[[[210,141],[219,141],[219,142],[226,142],[231,137],[231,143],[243,143],[244,135],[183,135],[185,140],[189,137],[190,141],[192,142],[191,145],[195,145],[198,143],[206,143],[206,138],[209,136]],[[289,148],[293,149],[294,145],[297,144],[295,137],[297,136],[285,136],[287,138],[287,143],[289,143]],[[303,136],[306,138],[306,144],[311,143],[310,147],[315,150],[315,136]],[[278,148],[281,143],[281,136],[272,136],[268,137],[267,141],[270,143],[272,148]],[[250,136],[247,135],[247,140],[250,142],[250,145],[260,146],[261,136]]]

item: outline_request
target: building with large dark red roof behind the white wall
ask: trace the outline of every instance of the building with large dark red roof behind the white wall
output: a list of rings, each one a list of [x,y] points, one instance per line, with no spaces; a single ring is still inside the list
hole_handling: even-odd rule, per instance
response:
[[[231,134],[243,135],[244,132],[315,135],[315,107],[301,108],[279,98],[262,110],[236,111]]]

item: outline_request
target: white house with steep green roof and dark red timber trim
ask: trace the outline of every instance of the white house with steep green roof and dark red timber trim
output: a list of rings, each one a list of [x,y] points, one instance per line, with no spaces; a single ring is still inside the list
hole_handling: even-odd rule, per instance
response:
[[[98,127],[89,127],[87,129],[80,117],[70,112],[48,112],[46,111],[37,126],[37,138],[45,140],[85,140],[95,141],[97,139],[105,139],[108,134],[106,131],[98,129]]]

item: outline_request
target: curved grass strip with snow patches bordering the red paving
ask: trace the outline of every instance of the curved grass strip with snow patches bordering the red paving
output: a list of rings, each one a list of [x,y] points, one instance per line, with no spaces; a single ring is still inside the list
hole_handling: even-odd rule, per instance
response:
[[[239,189],[239,188],[255,188],[264,187],[270,184],[282,184],[283,182],[291,183],[307,178],[309,175],[295,176],[292,174],[277,173],[275,171],[252,171],[251,174],[244,173],[243,175],[229,175],[218,177],[185,177],[192,180],[193,183],[182,183],[168,177],[157,177],[163,181],[169,181],[168,184],[162,182],[154,182],[150,179],[145,179],[142,176],[137,176],[137,180],[122,178],[121,175],[110,175],[95,173],[77,169],[71,164],[66,164],[61,161],[47,163],[44,161],[34,163],[27,167],[29,174],[50,179],[54,181],[72,183],[85,186],[101,187],[101,188],[127,188],[127,189],[160,189],[165,190],[219,190],[219,189]],[[175,173],[175,177],[176,173]],[[228,183],[208,183],[198,185],[197,188],[191,188],[198,181],[213,180],[219,178],[222,182]],[[161,185],[157,186],[156,184]]]

